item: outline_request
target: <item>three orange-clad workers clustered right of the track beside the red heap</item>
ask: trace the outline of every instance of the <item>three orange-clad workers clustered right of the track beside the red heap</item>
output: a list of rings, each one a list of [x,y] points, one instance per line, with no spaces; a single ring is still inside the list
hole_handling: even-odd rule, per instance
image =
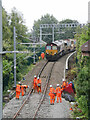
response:
[[[52,87],[52,85],[50,85],[50,92],[48,95],[50,96],[50,104],[51,105],[54,105],[56,96],[57,96],[57,103],[59,103],[59,101],[60,101],[60,103],[62,102],[61,94],[67,85],[68,85],[68,82],[66,82],[64,79],[63,79],[63,83],[62,83],[61,87],[59,84],[57,84],[56,89],[54,89]]]

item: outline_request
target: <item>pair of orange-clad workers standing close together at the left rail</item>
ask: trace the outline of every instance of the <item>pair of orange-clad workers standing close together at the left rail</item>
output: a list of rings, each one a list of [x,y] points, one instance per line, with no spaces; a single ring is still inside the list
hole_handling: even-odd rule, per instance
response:
[[[37,90],[37,92],[41,92],[41,79],[37,77],[36,75],[34,76],[33,79],[33,90],[34,92]]]

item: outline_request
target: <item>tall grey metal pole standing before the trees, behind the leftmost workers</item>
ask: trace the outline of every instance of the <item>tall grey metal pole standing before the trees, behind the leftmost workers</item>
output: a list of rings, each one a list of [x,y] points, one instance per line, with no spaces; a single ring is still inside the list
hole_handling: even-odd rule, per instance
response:
[[[13,28],[14,34],[14,86],[16,87],[16,29]]]

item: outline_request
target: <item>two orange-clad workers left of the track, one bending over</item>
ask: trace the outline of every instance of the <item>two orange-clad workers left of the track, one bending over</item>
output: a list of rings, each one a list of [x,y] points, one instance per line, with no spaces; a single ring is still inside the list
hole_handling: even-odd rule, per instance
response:
[[[20,93],[22,96],[26,94],[26,88],[29,88],[28,85],[23,85],[21,82],[18,82],[16,85],[16,99],[19,99]]]

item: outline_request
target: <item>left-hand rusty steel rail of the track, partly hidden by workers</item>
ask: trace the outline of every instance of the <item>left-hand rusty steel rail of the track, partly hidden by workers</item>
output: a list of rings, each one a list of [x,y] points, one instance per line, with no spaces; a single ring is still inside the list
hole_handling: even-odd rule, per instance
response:
[[[40,77],[43,69],[44,69],[45,66],[47,65],[47,63],[48,63],[48,61],[47,61],[47,62],[43,65],[43,67],[41,68],[41,70],[40,70],[40,72],[39,72],[39,74],[38,74],[39,77]],[[25,103],[27,102],[27,100],[29,99],[29,97],[30,97],[30,95],[32,94],[32,92],[33,92],[33,86],[32,86],[32,89],[30,89],[29,94],[28,94],[28,96],[26,97],[26,99],[24,100],[24,102],[23,102],[23,104],[21,105],[20,109],[16,112],[16,114],[15,114],[14,117],[12,118],[12,120],[14,120],[14,119],[19,115],[21,109],[23,108],[23,106],[25,105]]]

